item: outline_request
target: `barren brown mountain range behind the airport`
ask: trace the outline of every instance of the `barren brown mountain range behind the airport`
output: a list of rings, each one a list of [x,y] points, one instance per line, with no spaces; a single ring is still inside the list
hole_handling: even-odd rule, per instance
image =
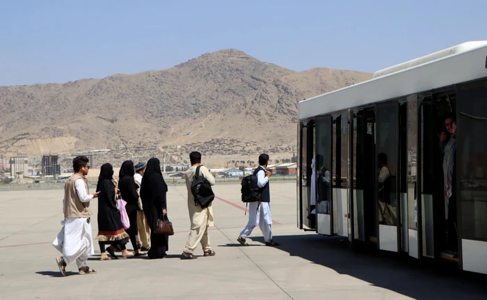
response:
[[[294,72],[224,49],[168,70],[0,86],[0,152],[40,155],[214,138],[292,145],[298,101],[371,77],[324,68]]]

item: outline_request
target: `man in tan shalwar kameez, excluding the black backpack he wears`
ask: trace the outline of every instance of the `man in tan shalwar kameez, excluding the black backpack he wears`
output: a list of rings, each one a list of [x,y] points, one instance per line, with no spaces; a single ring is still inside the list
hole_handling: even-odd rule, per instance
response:
[[[200,243],[205,256],[214,256],[215,251],[211,250],[208,237],[208,227],[214,226],[213,207],[211,206],[211,203],[208,207],[203,209],[199,205],[196,206],[193,194],[191,193],[191,182],[193,182],[196,168],[201,165],[200,152],[191,152],[189,154],[189,159],[191,161],[191,168],[186,171],[186,188],[188,189],[188,210],[191,228],[181,258],[192,260],[196,258],[196,256],[193,255],[193,251]],[[200,176],[205,177],[211,185],[215,184],[215,177],[209,173],[207,167],[200,166]]]

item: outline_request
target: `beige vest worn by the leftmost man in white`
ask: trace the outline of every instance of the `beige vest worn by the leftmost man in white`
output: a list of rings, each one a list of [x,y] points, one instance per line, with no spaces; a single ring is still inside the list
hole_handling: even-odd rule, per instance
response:
[[[74,182],[82,179],[85,182],[86,194],[90,194],[88,189],[88,180],[86,177],[79,174],[74,174],[67,178],[64,184],[64,217],[65,218],[89,218],[90,202],[83,203],[79,200],[78,193],[76,192],[76,186]]]

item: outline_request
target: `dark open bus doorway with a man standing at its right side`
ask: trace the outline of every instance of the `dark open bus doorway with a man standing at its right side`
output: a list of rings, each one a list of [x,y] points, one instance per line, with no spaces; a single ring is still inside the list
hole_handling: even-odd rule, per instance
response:
[[[458,262],[455,116],[454,90],[420,96],[421,251]]]

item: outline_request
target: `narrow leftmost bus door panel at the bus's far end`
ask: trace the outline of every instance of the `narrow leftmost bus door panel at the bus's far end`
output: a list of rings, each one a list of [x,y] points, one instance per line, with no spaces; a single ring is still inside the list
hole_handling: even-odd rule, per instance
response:
[[[315,222],[310,218],[312,206],[311,200],[311,161],[314,155],[314,121],[304,121],[300,130],[300,153],[299,153],[299,203],[298,203],[298,227],[303,226],[314,228]]]

